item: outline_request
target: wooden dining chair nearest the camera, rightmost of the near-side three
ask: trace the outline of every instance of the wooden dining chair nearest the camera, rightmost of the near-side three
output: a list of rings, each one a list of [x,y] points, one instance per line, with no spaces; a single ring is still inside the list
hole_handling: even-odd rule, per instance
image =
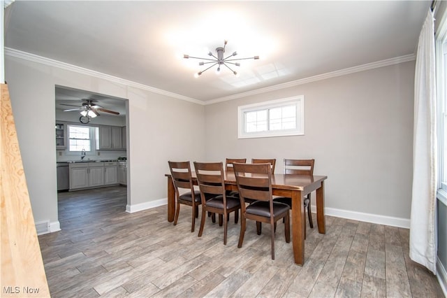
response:
[[[290,234],[290,206],[279,201],[273,201],[272,196],[272,169],[270,163],[265,164],[233,164],[237,188],[240,194],[241,225],[237,247],[242,247],[244,241],[247,219],[256,222],[269,223],[272,243],[272,260],[274,260],[274,223],[284,218],[284,234],[286,242],[291,240]],[[245,206],[245,199],[256,199]]]

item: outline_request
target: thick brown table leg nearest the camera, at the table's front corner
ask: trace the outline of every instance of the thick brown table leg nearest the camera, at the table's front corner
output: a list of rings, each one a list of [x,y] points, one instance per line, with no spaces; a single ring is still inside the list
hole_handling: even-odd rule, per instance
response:
[[[305,208],[302,204],[302,192],[292,192],[292,244],[295,263],[305,262]]]

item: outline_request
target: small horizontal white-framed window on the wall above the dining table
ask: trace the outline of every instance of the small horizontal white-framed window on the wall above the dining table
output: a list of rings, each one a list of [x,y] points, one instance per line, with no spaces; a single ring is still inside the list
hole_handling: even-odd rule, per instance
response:
[[[304,134],[304,96],[237,108],[239,139]]]

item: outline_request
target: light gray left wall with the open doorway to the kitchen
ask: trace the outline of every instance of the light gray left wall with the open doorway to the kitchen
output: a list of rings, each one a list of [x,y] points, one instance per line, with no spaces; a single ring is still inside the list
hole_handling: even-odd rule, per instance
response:
[[[168,159],[203,159],[204,107],[54,66],[6,56],[6,81],[34,220],[57,223],[55,85],[129,99],[128,205],[166,199]]]

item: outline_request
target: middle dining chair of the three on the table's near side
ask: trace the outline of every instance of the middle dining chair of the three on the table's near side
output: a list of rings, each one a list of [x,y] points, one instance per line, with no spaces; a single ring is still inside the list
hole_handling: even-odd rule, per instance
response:
[[[194,169],[196,169],[197,182],[202,199],[202,219],[198,236],[202,236],[206,212],[217,213],[219,214],[219,225],[223,222],[223,244],[226,245],[228,215],[234,212],[235,223],[237,223],[240,199],[226,195],[222,162],[194,162]],[[212,198],[207,199],[207,195],[211,195]],[[223,218],[226,220],[223,220]]]

